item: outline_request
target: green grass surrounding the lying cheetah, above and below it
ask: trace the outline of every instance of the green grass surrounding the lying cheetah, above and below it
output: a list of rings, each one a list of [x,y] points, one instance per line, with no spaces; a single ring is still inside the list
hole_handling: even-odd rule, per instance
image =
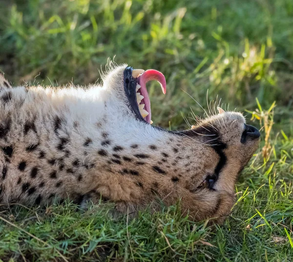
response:
[[[14,85],[95,82],[116,55],[166,76],[166,96],[148,88],[157,125],[187,128],[209,90],[264,126],[223,225],[190,222],[177,206],[115,221],[108,203],[2,207],[0,259],[292,261],[292,46],[292,0],[0,1],[0,69]]]

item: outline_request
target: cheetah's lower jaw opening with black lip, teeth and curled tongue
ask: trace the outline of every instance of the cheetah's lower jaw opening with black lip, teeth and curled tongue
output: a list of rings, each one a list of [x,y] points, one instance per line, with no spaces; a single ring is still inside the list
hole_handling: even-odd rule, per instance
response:
[[[126,67],[124,70],[124,89],[130,107],[139,120],[152,123],[151,110],[146,83],[156,80],[160,83],[162,91],[166,94],[166,79],[164,75],[154,69],[142,70]]]

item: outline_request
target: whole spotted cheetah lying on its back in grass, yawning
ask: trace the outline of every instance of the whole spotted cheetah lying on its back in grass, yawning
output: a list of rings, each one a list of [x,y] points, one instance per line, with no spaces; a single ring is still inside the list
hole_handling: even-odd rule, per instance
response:
[[[1,75],[0,203],[102,198],[134,212],[179,201],[194,221],[224,221],[259,131],[221,108],[189,130],[165,130],[151,124],[146,91],[156,80],[166,93],[162,73],[115,64],[102,80],[12,88]]]

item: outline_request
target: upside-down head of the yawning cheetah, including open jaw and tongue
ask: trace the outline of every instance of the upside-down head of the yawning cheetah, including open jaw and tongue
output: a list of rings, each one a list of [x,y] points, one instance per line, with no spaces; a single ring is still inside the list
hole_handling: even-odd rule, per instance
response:
[[[134,139],[142,138],[145,144],[150,141],[148,147],[150,143],[154,145],[145,149],[154,157],[146,161],[149,169],[145,165],[143,172],[149,184],[152,180],[162,184],[156,190],[161,199],[167,204],[181,199],[183,211],[188,210],[195,220],[217,217],[221,222],[234,204],[235,183],[258,148],[260,133],[246,124],[241,113],[221,108],[219,114],[189,130],[172,132],[153,126],[146,91],[150,80],[158,81],[166,93],[165,77],[156,70],[134,70],[123,65],[106,76],[104,86],[109,90],[109,100],[117,106],[113,112],[123,114],[115,125],[131,125],[128,130],[129,134],[136,130],[131,133]],[[155,136],[157,140],[153,139]]]

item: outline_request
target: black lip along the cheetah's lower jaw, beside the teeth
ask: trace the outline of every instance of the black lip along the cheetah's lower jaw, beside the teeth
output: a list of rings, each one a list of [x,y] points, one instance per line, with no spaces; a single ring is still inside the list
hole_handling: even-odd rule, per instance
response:
[[[144,121],[143,116],[139,111],[139,107],[136,101],[136,79],[132,77],[133,67],[128,66],[124,70],[124,90],[126,97],[128,98],[129,107],[135,114],[136,118],[140,121]],[[147,123],[147,122],[146,122]]]

